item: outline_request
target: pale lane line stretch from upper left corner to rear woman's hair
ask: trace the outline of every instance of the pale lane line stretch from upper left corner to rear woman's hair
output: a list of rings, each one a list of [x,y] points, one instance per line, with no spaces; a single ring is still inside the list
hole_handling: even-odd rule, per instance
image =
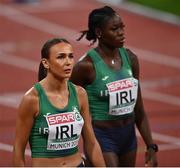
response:
[[[7,5],[0,5],[0,14],[14,22],[29,26],[42,32],[53,34],[55,36],[63,36],[72,41],[75,41],[79,36],[79,32],[73,29],[31,16],[12,7],[8,7]],[[80,43],[89,44],[83,40],[80,41]]]

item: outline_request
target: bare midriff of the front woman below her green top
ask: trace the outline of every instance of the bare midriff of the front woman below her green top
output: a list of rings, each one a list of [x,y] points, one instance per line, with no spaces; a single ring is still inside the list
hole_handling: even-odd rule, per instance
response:
[[[82,162],[79,152],[65,157],[59,158],[32,158],[32,166],[34,167],[76,167]]]

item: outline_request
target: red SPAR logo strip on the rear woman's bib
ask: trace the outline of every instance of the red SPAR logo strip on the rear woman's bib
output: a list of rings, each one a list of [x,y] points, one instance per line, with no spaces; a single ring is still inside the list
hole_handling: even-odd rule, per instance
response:
[[[110,92],[115,92],[133,87],[133,83],[129,79],[124,79],[124,80],[118,80],[115,82],[108,83],[107,87]]]

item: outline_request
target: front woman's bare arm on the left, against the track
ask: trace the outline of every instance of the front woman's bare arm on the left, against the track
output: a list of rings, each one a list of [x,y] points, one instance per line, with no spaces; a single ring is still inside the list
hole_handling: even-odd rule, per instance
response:
[[[38,112],[38,97],[36,91],[30,89],[22,98],[18,107],[16,132],[13,147],[13,165],[25,166],[25,148],[28,143],[34,118]]]

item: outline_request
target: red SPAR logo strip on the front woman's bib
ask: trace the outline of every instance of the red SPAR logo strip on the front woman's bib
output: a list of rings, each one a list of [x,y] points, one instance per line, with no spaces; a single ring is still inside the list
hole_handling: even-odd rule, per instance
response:
[[[47,121],[49,125],[70,123],[75,121],[75,116],[73,112],[49,115],[47,116]]]

